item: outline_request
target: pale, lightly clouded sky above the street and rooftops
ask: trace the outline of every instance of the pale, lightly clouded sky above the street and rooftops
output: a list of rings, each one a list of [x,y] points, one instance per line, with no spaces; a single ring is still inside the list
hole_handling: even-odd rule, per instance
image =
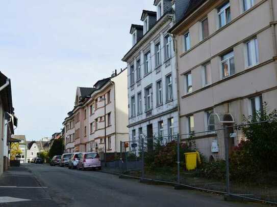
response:
[[[154,0],[8,0],[0,7],[0,71],[11,79],[16,134],[60,131],[77,86],[124,68],[132,23]]]

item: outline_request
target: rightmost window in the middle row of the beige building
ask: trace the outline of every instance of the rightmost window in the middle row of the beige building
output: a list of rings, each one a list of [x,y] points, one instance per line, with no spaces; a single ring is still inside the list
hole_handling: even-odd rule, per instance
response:
[[[259,49],[257,38],[245,43],[247,53],[247,66],[251,67],[259,63]]]

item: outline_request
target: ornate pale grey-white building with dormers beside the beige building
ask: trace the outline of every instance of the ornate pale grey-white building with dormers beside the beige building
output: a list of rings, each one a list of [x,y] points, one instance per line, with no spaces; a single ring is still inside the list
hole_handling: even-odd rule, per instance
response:
[[[132,24],[128,65],[130,141],[179,133],[177,73],[173,41],[168,34],[188,1],[156,0],[157,12],[143,10],[143,25]]]

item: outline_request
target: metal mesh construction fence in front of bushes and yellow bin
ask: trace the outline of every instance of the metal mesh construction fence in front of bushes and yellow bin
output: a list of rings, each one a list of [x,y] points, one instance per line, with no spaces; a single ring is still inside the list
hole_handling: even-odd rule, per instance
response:
[[[277,204],[276,132],[266,121],[141,136],[121,142],[121,174]]]

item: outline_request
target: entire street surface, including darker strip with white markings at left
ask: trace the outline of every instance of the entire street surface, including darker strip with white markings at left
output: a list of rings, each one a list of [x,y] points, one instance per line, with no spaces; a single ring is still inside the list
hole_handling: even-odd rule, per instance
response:
[[[214,194],[146,185],[97,171],[32,163],[5,172],[0,192],[1,196],[29,199],[0,206],[264,206],[226,202]]]

